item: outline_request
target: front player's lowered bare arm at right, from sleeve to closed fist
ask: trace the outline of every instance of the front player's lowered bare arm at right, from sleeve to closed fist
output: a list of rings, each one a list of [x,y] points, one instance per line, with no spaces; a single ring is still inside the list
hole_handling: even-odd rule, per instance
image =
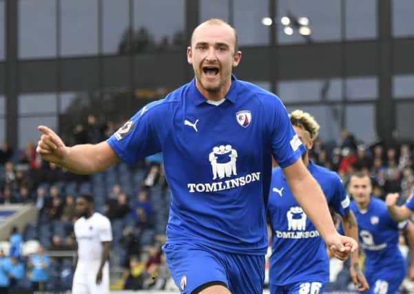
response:
[[[289,167],[285,167],[283,171],[293,195],[318,229],[333,255],[340,260],[346,260],[349,253],[358,249],[358,243],[336,231],[327,200],[318,182],[309,174],[300,159]]]

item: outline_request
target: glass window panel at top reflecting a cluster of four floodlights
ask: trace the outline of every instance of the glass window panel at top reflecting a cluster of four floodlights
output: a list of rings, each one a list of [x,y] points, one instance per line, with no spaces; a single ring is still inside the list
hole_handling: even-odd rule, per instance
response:
[[[291,14],[296,21],[300,17],[309,19],[309,28],[311,41],[338,41],[341,39],[340,28],[340,0],[280,0],[278,1],[276,26],[278,30],[279,43],[305,43],[307,37],[298,32],[298,26],[293,25],[291,28],[293,34],[284,33],[284,25],[281,23],[282,17]]]

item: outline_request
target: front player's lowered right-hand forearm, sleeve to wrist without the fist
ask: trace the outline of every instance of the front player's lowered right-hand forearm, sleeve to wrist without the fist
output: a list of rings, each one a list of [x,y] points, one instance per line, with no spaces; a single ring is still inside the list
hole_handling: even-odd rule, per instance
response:
[[[295,182],[289,182],[293,196],[318,229],[322,239],[326,240],[327,235],[337,233],[337,231],[333,225],[324,193],[311,174],[304,174],[301,178],[297,178]]]

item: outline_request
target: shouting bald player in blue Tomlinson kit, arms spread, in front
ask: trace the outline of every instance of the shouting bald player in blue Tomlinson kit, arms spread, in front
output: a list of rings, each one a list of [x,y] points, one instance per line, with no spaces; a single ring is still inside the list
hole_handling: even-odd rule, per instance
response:
[[[143,107],[108,140],[66,147],[39,126],[42,158],[76,173],[163,151],[172,191],[163,249],[181,293],[262,293],[271,154],[334,254],[345,259],[358,247],[335,231],[281,101],[231,74],[241,56],[236,30],[211,19],[187,48],[193,81]]]

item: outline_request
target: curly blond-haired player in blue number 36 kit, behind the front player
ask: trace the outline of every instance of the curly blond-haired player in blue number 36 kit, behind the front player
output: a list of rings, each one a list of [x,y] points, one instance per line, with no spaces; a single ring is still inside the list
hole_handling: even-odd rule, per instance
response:
[[[346,195],[338,174],[309,160],[309,151],[318,137],[319,124],[302,110],[289,114],[293,129],[307,149],[302,154],[304,165],[324,191],[328,205],[342,217],[344,232],[358,240],[358,225],[349,210]],[[329,282],[327,247],[315,226],[293,198],[280,167],[273,169],[269,193],[269,221],[272,235],[272,254],[269,260],[271,294],[323,293]],[[355,288],[366,291],[369,286],[358,265],[358,251],[351,255],[350,273]]]

